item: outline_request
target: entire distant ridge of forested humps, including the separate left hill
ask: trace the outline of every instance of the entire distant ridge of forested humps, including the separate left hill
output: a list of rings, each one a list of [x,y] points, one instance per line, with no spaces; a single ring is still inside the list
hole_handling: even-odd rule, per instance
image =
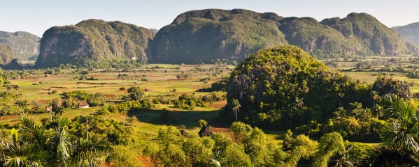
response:
[[[259,49],[296,45],[318,58],[397,56],[411,53],[396,31],[367,13],[344,18],[280,17],[251,10],[192,10],[157,33],[122,22],[89,19],[45,31],[36,67],[54,67],[79,57],[150,63],[241,61]]]

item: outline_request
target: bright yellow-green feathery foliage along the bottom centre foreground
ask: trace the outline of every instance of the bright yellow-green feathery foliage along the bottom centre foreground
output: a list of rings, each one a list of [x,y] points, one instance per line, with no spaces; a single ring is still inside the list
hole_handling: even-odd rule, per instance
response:
[[[257,127],[233,122],[230,129],[234,141],[225,133],[199,138],[173,127],[163,128],[143,152],[155,166],[354,166],[362,159],[355,156],[371,149],[343,141],[337,132],[325,134],[318,142],[290,133],[285,139],[288,144],[280,148]]]

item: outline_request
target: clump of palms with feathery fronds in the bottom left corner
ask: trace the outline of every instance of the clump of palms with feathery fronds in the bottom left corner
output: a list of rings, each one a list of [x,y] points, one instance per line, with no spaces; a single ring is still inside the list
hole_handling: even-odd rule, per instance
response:
[[[108,150],[106,140],[72,140],[67,121],[59,118],[51,131],[23,117],[19,131],[0,138],[0,163],[3,166],[99,166]]]

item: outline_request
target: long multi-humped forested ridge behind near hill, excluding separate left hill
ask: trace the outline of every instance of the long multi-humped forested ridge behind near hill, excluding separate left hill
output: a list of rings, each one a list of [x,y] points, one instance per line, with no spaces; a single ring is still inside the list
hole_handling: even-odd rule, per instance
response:
[[[150,61],[241,61],[259,49],[291,44],[318,58],[407,53],[402,37],[366,13],[325,19],[280,17],[250,10],[193,10],[160,29]]]

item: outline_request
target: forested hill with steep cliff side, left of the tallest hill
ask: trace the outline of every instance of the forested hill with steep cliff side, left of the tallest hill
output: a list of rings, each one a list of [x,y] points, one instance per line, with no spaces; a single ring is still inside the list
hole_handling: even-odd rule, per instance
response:
[[[147,61],[148,45],[154,34],[123,22],[88,19],[75,26],[55,26],[43,34],[35,67],[56,67],[111,59]]]

